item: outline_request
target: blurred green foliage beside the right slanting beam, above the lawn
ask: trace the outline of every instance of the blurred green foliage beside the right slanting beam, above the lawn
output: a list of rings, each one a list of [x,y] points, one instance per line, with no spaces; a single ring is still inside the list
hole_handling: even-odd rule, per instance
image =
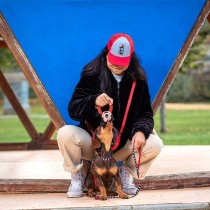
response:
[[[197,102],[210,100],[210,70],[205,67],[210,27],[206,21],[196,37],[185,61],[171,85],[167,102]]]

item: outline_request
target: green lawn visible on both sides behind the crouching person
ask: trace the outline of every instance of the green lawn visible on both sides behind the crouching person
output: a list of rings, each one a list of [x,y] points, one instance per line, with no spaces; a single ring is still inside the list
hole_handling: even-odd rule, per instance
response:
[[[19,118],[2,115],[0,107],[0,142],[30,142],[30,137]],[[50,119],[37,103],[31,106],[31,121],[43,133]],[[167,110],[166,133],[160,133],[160,116],[155,116],[155,130],[165,145],[210,145],[210,110]]]

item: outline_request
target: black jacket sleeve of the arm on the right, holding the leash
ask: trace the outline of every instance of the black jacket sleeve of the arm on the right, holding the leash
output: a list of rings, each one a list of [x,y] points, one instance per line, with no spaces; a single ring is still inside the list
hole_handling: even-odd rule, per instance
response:
[[[153,111],[150,102],[148,85],[146,82],[144,82],[143,88],[141,107],[137,115],[137,119],[134,122],[130,139],[132,139],[133,135],[138,131],[143,132],[145,138],[147,139],[154,128]]]

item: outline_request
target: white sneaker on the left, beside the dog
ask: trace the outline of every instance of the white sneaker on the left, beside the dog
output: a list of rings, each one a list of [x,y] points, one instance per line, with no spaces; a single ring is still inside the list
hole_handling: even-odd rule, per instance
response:
[[[71,174],[71,185],[67,191],[68,198],[77,198],[81,197],[83,194],[84,188],[84,175],[82,171],[78,171],[76,174]]]

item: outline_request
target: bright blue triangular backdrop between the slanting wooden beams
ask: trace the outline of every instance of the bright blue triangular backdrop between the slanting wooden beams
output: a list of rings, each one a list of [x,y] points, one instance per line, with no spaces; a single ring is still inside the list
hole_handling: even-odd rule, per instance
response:
[[[127,33],[152,100],[205,0],[0,0],[0,10],[66,123],[83,66],[108,39]]]

